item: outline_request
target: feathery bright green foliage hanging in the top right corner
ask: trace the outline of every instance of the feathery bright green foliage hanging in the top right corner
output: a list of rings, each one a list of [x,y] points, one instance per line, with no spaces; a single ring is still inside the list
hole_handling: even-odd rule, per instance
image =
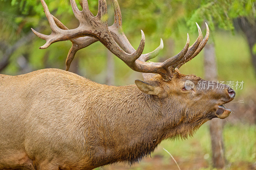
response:
[[[233,19],[237,17],[255,18],[255,0],[185,0],[186,20],[190,29],[195,22],[207,21],[212,30],[218,26],[224,30],[234,30]]]

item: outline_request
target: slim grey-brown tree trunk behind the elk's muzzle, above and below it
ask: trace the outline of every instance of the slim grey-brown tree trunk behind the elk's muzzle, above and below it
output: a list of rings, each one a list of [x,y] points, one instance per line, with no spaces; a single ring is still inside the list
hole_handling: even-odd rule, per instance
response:
[[[208,43],[204,47],[204,74],[205,79],[217,80],[217,67],[215,57],[215,47],[213,43]],[[215,168],[225,167],[224,144],[222,139],[222,121],[214,118],[210,121],[210,135],[212,142],[212,163]]]

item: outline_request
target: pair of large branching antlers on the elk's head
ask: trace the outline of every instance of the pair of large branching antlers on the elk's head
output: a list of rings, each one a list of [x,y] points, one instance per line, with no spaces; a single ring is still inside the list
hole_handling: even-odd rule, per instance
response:
[[[104,20],[104,17],[102,17],[107,14],[106,0],[99,0],[99,11],[95,17],[91,11],[89,11],[87,0],[82,0],[82,2],[79,2],[83,7],[82,11],[78,10],[75,0],[70,0],[74,15],[80,22],[80,25],[76,29],[72,30],[68,30],[68,28],[64,26],[57,18],[50,14],[44,0],[41,0],[41,3],[43,4],[45,15],[49,20],[52,33],[50,35],[44,35],[36,32],[32,28],[31,29],[38,37],[46,40],[44,46],[40,47],[41,49],[47,48],[52,43],[57,41],[70,40],[72,42],[72,47],[66,60],[66,70],[68,70],[77,50],[87,47],[96,41],[100,41],[113,54],[124,61],[124,63],[126,63],[132,70],[144,73],[157,73],[162,76],[164,81],[170,81],[175,68],[180,68],[182,64],[194,58],[204,48],[209,38],[209,28],[207,24],[205,23],[207,29],[206,36],[202,40],[201,29],[196,23],[199,36],[191,47],[189,47],[188,36],[187,43],[180,53],[167,59],[163,63],[148,63],[146,61],[156,57],[163,48],[163,41],[161,39],[160,46],[154,51],[148,54],[142,54],[145,45],[145,36],[141,30],[142,38],[140,45],[139,48],[135,50],[123,32],[122,15],[117,0],[112,0],[115,11],[115,21],[114,24],[109,27],[107,25],[107,20]]]

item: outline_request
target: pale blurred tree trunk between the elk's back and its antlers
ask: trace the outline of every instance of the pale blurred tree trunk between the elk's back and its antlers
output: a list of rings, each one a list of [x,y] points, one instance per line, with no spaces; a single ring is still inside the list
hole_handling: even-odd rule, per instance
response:
[[[115,84],[115,62],[113,54],[107,50],[107,69],[106,69],[106,85]]]

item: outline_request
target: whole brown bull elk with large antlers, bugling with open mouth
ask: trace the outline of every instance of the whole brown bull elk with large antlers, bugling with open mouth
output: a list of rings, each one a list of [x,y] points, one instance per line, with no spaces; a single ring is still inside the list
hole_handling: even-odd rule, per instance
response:
[[[135,50],[122,30],[119,5],[112,0],[115,20],[108,26],[106,0],[99,0],[94,16],[87,0],[70,0],[80,25],[69,30],[41,0],[52,33],[32,31],[46,43],[72,41],[68,70],[76,51],[100,41],[132,70],[142,72],[144,81],[136,85],[108,86],[74,73],[43,69],[24,75],[0,75],[0,169],[93,169],[116,162],[132,165],[154,151],[167,138],[187,138],[206,121],[226,118],[230,110],[223,104],[235,97],[228,85],[198,88],[195,75],[179,72],[194,58],[209,37],[199,36],[189,47],[189,36],[179,54],[163,63],[147,62],[163,48],[142,54],[143,31]],[[186,81],[191,84],[186,84]]]

